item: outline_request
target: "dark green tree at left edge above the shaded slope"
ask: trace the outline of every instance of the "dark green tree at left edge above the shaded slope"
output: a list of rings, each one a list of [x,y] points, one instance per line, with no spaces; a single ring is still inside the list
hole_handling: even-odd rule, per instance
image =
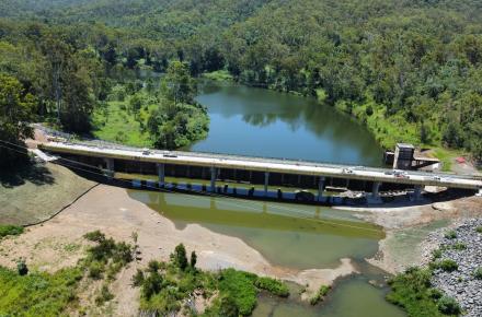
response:
[[[23,141],[33,137],[35,98],[13,77],[0,74],[0,167],[27,158]],[[8,143],[5,143],[8,142]],[[19,153],[20,152],[20,153]]]

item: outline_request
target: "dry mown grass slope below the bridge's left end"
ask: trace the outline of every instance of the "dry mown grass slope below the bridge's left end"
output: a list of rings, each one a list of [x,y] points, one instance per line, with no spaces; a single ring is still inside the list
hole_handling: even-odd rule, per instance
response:
[[[56,164],[0,172],[0,223],[27,225],[47,220],[94,186]]]

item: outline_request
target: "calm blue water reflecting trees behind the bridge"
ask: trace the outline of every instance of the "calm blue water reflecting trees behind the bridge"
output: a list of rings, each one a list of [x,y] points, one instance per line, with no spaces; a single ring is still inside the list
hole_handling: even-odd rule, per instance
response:
[[[381,166],[374,137],[314,98],[213,81],[200,87],[209,134],[187,150]]]

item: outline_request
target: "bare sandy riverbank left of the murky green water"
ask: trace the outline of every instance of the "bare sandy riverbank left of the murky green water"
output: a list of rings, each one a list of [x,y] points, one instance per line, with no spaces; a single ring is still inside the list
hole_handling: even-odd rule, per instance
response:
[[[308,284],[309,292],[355,272],[349,259],[342,259],[335,269],[298,271],[272,266],[259,251],[239,238],[210,232],[197,224],[177,230],[169,219],[129,198],[125,189],[105,185],[92,189],[53,220],[30,227],[19,237],[2,240],[0,265],[14,267],[12,260],[24,257],[31,268],[46,271],[73,266],[87,247],[82,235],[94,230],[126,242],[131,242],[133,232],[138,233],[142,259],[128,269],[133,273],[136,267],[146,266],[151,259],[168,260],[180,243],[187,250],[196,250],[198,267],[203,269],[232,267],[301,285]],[[125,307],[125,303],[136,303],[138,296],[137,290],[129,285],[130,275],[123,274],[116,283],[114,291],[117,312],[122,307],[123,313],[135,315],[137,307]]]

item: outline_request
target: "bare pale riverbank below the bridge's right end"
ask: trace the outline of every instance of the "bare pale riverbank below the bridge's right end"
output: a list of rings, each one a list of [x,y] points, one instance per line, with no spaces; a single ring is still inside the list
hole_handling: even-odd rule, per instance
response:
[[[437,231],[446,230],[464,219],[482,216],[482,199],[466,197],[446,202],[411,207],[336,207],[357,212],[357,216],[386,228],[386,238],[379,242],[379,251],[367,261],[392,274],[409,267],[426,265],[427,249],[436,248],[426,239]]]

